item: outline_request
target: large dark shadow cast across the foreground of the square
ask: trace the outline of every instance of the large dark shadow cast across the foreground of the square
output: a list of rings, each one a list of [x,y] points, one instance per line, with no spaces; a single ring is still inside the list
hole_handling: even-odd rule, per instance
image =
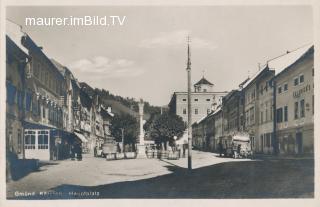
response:
[[[60,185],[51,189],[59,196],[27,199],[314,197],[313,159],[227,162],[192,171],[167,163],[172,172],[167,175],[97,186]],[[99,195],[84,195],[89,192]]]

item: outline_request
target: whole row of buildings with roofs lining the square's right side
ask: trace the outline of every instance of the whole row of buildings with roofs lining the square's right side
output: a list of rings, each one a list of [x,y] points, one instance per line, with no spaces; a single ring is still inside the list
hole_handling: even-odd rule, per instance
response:
[[[193,145],[249,134],[255,153],[314,152],[314,49],[306,45],[271,59],[252,78],[223,97],[221,109],[192,125]],[[209,147],[209,148],[210,148]]]

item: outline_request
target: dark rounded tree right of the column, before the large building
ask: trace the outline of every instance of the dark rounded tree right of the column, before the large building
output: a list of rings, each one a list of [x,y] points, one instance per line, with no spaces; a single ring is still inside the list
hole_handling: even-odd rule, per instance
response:
[[[164,144],[166,150],[167,143],[172,143],[174,136],[181,137],[185,129],[186,125],[180,116],[163,113],[153,118],[148,131],[156,143]]]

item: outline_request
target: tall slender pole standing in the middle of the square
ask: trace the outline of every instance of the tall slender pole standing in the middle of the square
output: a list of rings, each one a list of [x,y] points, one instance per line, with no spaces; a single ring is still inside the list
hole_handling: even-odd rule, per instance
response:
[[[191,55],[190,55],[190,38],[187,38],[188,42],[188,62],[187,62],[187,73],[188,73],[188,170],[192,170],[192,137],[191,137]]]

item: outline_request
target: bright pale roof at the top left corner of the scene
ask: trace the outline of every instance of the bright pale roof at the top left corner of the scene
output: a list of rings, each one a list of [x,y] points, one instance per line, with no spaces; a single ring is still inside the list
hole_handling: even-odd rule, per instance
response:
[[[26,35],[22,31],[22,26],[19,26],[18,24],[6,20],[6,34],[23,52],[29,54],[28,49],[25,48],[21,43],[22,37]]]

